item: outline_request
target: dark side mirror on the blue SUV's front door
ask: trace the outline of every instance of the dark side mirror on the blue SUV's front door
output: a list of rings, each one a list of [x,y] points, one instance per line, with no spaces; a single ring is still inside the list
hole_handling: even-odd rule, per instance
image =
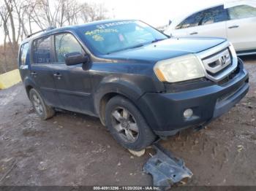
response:
[[[78,63],[87,63],[89,58],[80,52],[71,52],[64,55],[64,61],[67,66],[72,66]]]

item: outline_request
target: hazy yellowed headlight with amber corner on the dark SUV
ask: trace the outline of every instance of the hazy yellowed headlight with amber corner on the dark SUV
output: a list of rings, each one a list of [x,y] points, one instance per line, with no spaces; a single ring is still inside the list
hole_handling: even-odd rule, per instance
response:
[[[181,82],[204,77],[203,66],[195,55],[183,55],[159,61],[154,72],[162,82]]]

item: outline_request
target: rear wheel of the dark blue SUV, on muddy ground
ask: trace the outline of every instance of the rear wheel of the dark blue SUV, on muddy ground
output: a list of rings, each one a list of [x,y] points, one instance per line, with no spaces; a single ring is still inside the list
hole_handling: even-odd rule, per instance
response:
[[[34,110],[42,120],[47,120],[55,114],[55,110],[45,104],[42,96],[34,88],[29,91],[29,99]]]

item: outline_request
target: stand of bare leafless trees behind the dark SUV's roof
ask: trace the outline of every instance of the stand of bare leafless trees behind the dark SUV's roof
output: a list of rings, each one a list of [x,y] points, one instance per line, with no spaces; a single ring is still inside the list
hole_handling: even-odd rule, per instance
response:
[[[107,18],[104,4],[78,0],[0,0],[0,73],[17,67],[18,44],[48,27],[62,27]]]

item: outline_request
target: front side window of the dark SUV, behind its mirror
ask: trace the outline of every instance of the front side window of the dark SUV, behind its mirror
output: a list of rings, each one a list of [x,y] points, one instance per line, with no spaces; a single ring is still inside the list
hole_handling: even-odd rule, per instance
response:
[[[83,49],[72,34],[59,34],[55,36],[56,61],[64,62],[64,55],[71,52],[81,52]]]

